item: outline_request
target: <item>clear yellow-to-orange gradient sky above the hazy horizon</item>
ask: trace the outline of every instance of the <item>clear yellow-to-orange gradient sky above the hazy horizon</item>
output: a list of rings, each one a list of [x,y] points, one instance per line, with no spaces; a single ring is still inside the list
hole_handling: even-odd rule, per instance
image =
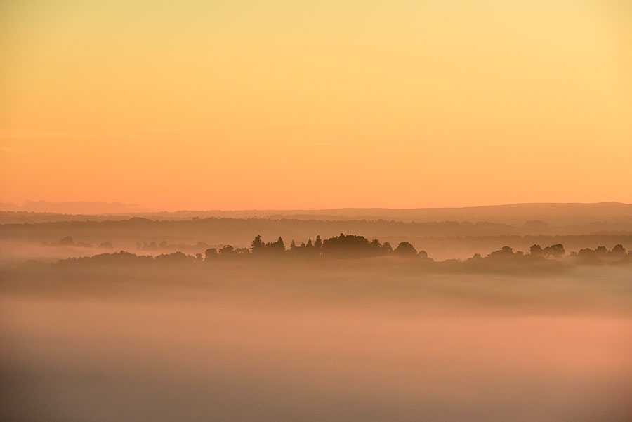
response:
[[[0,202],[632,202],[626,0],[0,1]]]

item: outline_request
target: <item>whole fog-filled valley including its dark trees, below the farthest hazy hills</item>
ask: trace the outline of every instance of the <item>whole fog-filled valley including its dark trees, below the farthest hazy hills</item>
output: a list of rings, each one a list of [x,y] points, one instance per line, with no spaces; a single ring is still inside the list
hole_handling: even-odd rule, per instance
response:
[[[551,230],[0,225],[0,416],[627,421],[632,233]]]

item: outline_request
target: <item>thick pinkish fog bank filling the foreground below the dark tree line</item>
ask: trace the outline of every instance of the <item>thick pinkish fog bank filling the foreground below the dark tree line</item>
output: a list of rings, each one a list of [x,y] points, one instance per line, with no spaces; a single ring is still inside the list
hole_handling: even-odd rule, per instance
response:
[[[407,262],[5,266],[0,419],[629,420],[630,268]]]

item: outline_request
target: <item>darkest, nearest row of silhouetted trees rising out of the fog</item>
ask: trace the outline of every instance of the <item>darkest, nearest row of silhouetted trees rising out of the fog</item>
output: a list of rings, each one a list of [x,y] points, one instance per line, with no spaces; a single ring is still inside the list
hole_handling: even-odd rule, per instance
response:
[[[62,262],[72,261],[89,261],[99,263],[201,263],[212,262],[224,258],[285,258],[285,257],[303,257],[303,258],[371,258],[378,256],[397,256],[400,258],[416,259],[428,263],[434,261],[428,258],[426,251],[417,251],[409,242],[400,242],[395,249],[388,242],[381,243],[377,239],[369,241],[366,237],[357,235],[343,235],[330,237],[322,240],[317,236],[315,241],[312,239],[301,242],[297,246],[294,240],[291,241],[289,249],[285,247],[284,240],[279,237],[275,242],[264,242],[260,235],[257,235],[251,242],[250,248],[235,248],[232,245],[225,245],[220,249],[206,249],[204,255],[196,253],[195,256],[187,255],[181,251],[173,253],[161,253],[158,256],[137,256],[136,254],[120,251],[119,253],[101,253],[93,257],[69,258]],[[538,244],[531,246],[529,253],[522,251],[514,252],[509,246],[489,253],[486,257],[482,257],[476,253],[472,258],[466,261],[447,260],[437,265],[452,265],[450,268],[456,268],[461,265],[464,270],[468,268],[492,269],[494,266],[502,267],[503,265],[539,265],[538,263],[564,261],[567,263],[577,263],[584,265],[599,265],[601,263],[632,263],[632,251],[628,252],[621,244],[617,244],[611,251],[604,246],[596,249],[581,249],[579,252],[572,252],[566,255],[566,251],[562,244],[553,244],[542,248]],[[456,265],[456,267],[454,267]]]

